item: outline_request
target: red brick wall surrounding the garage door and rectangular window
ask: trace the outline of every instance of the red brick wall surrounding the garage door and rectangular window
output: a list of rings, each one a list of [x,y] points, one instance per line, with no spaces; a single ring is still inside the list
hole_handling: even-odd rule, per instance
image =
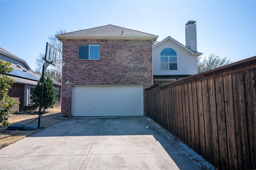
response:
[[[100,60],[78,60],[78,44],[100,44]],[[144,90],[152,86],[152,40],[64,39],[62,53],[64,116],[71,115],[72,85],[142,84]]]

